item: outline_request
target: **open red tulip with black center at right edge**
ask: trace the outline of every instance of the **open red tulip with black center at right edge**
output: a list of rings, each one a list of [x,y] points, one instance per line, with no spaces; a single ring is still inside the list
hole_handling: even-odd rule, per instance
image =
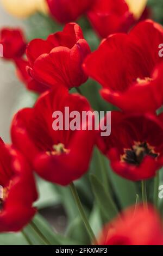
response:
[[[162,166],[162,124],[161,115],[112,112],[111,136],[99,136],[98,147],[109,158],[112,170],[123,178],[152,178]]]

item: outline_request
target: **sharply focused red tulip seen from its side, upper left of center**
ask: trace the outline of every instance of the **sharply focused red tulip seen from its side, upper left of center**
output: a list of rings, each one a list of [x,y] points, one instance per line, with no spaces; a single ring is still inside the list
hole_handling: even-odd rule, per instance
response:
[[[34,39],[27,47],[30,63],[28,72],[37,82],[49,88],[79,87],[86,82],[82,63],[90,47],[83,38],[82,29],[69,23],[62,32],[49,35],[47,40]]]

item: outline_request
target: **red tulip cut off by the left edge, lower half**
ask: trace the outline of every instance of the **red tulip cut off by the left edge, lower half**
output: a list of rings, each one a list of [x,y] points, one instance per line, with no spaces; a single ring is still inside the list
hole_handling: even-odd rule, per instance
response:
[[[0,142],[0,232],[19,231],[32,220],[37,199],[35,181],[24,157]]]

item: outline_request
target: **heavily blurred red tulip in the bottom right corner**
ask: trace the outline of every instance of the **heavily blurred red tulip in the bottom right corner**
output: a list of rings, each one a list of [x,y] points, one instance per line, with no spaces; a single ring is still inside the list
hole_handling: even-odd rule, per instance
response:
[[[160,217],[152,207],[144,210],[139,205],[123,212],[103,229],[98,245],[163,245],[163,228]]]

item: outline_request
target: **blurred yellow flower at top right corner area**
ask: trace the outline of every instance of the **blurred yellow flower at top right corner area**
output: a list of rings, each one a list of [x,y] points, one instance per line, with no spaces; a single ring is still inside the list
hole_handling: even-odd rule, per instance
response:
[[[146,8],[147,0],[125,0],[129,6],[129,10],[134,14],[136,20],[138,20],[143,11]]]

